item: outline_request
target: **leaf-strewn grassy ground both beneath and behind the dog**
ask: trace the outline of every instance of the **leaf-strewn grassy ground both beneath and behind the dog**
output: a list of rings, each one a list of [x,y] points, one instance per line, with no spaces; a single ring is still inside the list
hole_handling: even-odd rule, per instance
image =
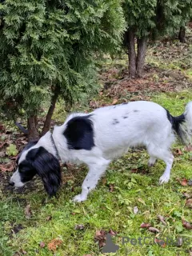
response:
[[[182,114],[192,100],[192,69],[187,57],[190,43],[188,38],[184,45],[173,42],[172,46],[150,46],[145,76],[134,81],[127,77],[125,56],[114,61],[106,58],[100,66],[99,94],[89,106],[78,105],[73,110],[90,111],[98,106],[146,99],[158,102],[173,115]],[[171,49],[177,49],[178,54],[170,54]],[[181,66],[179,56],[183,57],[183,50],[188,54]],[[157,54],[161,51],[165,54]],[[55,122],[64,121],[63,109],[58,103]],[[7,122],[3,125],[11,130],[16,143],[16,128]],[[192,222],[192,152],[178,142],[173,152],[169,183],[158,185],[165,168],[162,161],[149,168],[146,150],[134,149],[110,164],[97,189],[82,203],[74,203],[72,198],[81,190],[86,166],[62,166],[63,182],[57,198],[47,198],[38,177],[22,189],[13,189],[7,185],[11,173],[0,172],[0,255],[192,255],[192,233],[182,225],[184,220]],[[142,223],[158,230],[151,232]],[[119,246],[115,254],[102,254],[108,232]]]

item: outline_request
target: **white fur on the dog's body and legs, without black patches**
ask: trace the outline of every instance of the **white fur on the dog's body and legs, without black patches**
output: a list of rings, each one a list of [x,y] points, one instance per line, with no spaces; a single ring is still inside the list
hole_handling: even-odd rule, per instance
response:
[[[94,124],[95,146],[92,150],[68,150],[63,136],[67,122],[85,114],[72,114],[62,126],[54,127],[53,138],[62,161],[84,162],[89,166],[89,172],[82,183],[82,194],[76,196],[74,201],[86,200],[87,194],[97,185],[110,161],[133,146],[146,146],[150,154],[150,165],[154,164],[156,158],[166,162],[166,170],[159,183],[169,181],[174,160],[170,146],[175,136],[162,106],[154,102],[130,102],[115,108],[102,107],[90,114]],[[118,124],[113,124],[114,119]]]

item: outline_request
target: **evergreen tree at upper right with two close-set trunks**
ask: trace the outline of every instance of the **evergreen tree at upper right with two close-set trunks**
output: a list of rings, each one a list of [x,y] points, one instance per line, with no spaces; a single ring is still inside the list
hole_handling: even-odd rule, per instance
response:
[[[122,6],[127,24],[125,44],[129,74],[131,78],[139,78],[142,77],[147,39],[170,36],[178,31],[190,18],[192,1],[125,0]]]

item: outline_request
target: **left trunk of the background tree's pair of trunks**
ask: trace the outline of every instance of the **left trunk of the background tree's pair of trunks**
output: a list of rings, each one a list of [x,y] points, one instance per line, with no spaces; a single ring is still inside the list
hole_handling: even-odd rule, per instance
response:
[[[126,33],[127,35],[127,47],[129,56],[129,74],[130,78],[136,77],[136,54],[134,46],[134,30],[130,29]]]

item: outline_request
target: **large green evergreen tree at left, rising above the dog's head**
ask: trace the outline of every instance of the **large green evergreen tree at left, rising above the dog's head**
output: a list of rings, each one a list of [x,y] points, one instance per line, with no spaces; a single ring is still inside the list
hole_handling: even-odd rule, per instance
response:
[[[121,2],[10,0],[0,11],[0,95],[4,108],[14,102],[26,115],[36,139],[42,106],[50,105],[44,134],[59,95],[71,104],[97,90],[96,59],[121,42]]]

